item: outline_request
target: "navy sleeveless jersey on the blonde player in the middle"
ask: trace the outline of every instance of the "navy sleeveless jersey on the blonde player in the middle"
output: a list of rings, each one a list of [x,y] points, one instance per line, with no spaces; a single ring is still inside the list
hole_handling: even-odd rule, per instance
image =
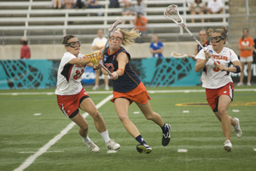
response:
[[[123,47],[118,48],[115,52],[113,52],[113,54],[109,54],[109,48],[106,48],[104,51],[103,61],[104,65],[108,68],[109,71],[117,71],[119,69],[119,64],[116,59],[119,53],[122,52],[127,54],[129,62],[125,65],[124,74],[119,76],[118,79],[112,80],[112,83],[113,91],[125,93],[131,91],[134,88],[137,88],[137,86],[141,83],[140,78],[134,71],[132,71],[130,63],[131,55]]]

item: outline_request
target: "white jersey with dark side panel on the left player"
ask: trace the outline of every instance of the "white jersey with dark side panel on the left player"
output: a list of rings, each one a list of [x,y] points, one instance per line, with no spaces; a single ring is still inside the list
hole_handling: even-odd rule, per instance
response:
[[[79,54],[80,59],[83,57],[84,54]],[[73,58],[77,57],[69,52],[63,55],[58,69],[55,94],[73,95],[79,94],[82,90],[81,76],[84,73],[84,66],[69,64],[69,61]]]

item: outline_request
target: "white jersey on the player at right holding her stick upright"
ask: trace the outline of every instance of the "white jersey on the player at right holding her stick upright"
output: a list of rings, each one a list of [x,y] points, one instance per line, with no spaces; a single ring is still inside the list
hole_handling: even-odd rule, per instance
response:
[[[213,50],[212,45],[208,45],[207,50],[212,54],[212,58],[217,60],[219,64],[222,64],[225,67],[229,67],[231,62],[238,60],[237,55],[230,48],[224,47],[219,54],[217,54]],[[195,59],[196,60],[206,59],[203,49],[201,49],[201,51],[195,56]],[[202,87],[203,88],[221,88],[230,82],[233,82],[233,81],[229,75],[229,72],[219,71],[218,67],[214,64],[213,60],[209,59],[203,70]]]

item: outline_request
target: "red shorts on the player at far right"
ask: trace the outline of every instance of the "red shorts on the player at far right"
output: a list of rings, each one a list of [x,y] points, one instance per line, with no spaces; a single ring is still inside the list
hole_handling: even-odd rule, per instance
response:
[[[220,95],[228,95],[230,96],[231,101],[233,101],[234,96],[234,83],[228,83],[224,87],[216,88],[216,89],[206,89],[207,93],[207,101],[208,104],[211,106],[212,111],[218,111],[218,97]]]

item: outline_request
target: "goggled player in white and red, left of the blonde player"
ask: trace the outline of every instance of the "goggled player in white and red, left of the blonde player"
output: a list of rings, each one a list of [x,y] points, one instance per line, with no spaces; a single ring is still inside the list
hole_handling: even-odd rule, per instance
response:
[[[96,109],[96,105],[85,92],[81,83],[81,76],[84,73],[84,66],[90,66],[98,69],[89,60],[85,60],[84,54],[80,53],[80,42],[77,37],[67,35],[63,38],[62,44],[65,45],[67,53],[61,59],[58,69],[57,86],[55,94],[57,94],[57,102],[61,111],[79,126],[79,134],[90,151],[99,151],[99,147],[95,145],[88,136],[89,125],[80,114],[79,108],[93,118],[97,131],[102,135],[103,140],[109,150],[118,150],[120,145],[110,140],[108,129],[105,122]]]

